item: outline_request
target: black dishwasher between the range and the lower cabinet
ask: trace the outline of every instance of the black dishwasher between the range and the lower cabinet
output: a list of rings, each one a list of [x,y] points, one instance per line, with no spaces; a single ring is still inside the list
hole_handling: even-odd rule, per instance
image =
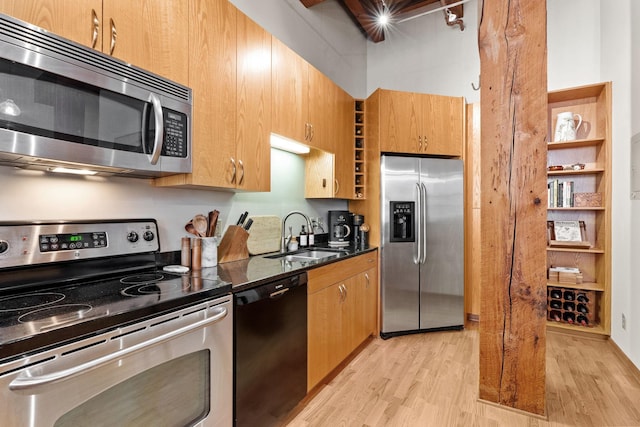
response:
[[[281,425],[307,393],[307,273],[234,295],[236,426]]]

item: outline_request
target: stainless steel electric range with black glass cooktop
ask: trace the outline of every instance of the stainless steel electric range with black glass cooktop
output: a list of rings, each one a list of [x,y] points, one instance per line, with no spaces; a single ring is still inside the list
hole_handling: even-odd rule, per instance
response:
[[[159,251],[152,219],[0,223],[8,425],[231,424],[231,284]]]

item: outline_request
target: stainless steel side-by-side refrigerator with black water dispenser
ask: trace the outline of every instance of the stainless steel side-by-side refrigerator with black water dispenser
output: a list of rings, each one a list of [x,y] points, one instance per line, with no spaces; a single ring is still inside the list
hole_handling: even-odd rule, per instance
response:
[[[381,336],[462,329],[462,161],[383,155],[381,209]]]

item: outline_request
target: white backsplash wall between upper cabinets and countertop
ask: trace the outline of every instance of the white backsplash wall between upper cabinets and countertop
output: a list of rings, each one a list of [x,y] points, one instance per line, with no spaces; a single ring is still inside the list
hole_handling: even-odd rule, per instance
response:
[[[302,157],[271,150],[271,192],[238,193],[156,188],[150,180],[121,177],[55,176],[0,167],[0,221],[155,218],[162,251],[180,249],[185,223],[197,213],[218,209],[223,227],[245,210],[278,215],[301,210],[327,223],[327,210],[347,209],[343,200],[304,198]],[[289,224],[289,223],[287,223]],[[302,221],[291,218],[294,232]],[[223,228],[224,230],[224,228]]]

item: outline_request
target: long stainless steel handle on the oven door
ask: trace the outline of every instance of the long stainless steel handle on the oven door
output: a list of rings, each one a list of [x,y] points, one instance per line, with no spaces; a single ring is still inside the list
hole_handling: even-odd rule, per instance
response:
[[[113,362],[115,360],[118,360],[130,354],[142,351],[147,347],[161,344],[165,341],[176,338],[180,335],[184,335],[189,332],[195,331],[196,329],[200,329],[210,324],[219,322],[227,316],[226,307],[217,307],[212,311],[216,312],[215,315],[213,315],[212,317],[208,317],[196,323],[192,323],[190,325],[176,329],[175,331],[171,331],[167,334],[160,335],[150,340],[135,344],[131,347],[118,350],[115,353],[107,354],[97,359],[90,360],[88,362],[74,366],[73,368],[63,369],[61,371],[52,372],[50,374],[45,374],[45,375],[36,376],[36,377],[29,377],[28,376],[29,371],[28,370],[24,371],[22,374],[20,374],[19,377],[11,381],[11,383],[9,384],[9,390],[12,390],[12,391],[30,390],[30,389],[47,385],[47,384],[53,384],[56,382],[71,379],[80,374],[84,374],[85,372],[89,372],[91,370],[99,368],[100,366],[106,365],[107,363]]]

